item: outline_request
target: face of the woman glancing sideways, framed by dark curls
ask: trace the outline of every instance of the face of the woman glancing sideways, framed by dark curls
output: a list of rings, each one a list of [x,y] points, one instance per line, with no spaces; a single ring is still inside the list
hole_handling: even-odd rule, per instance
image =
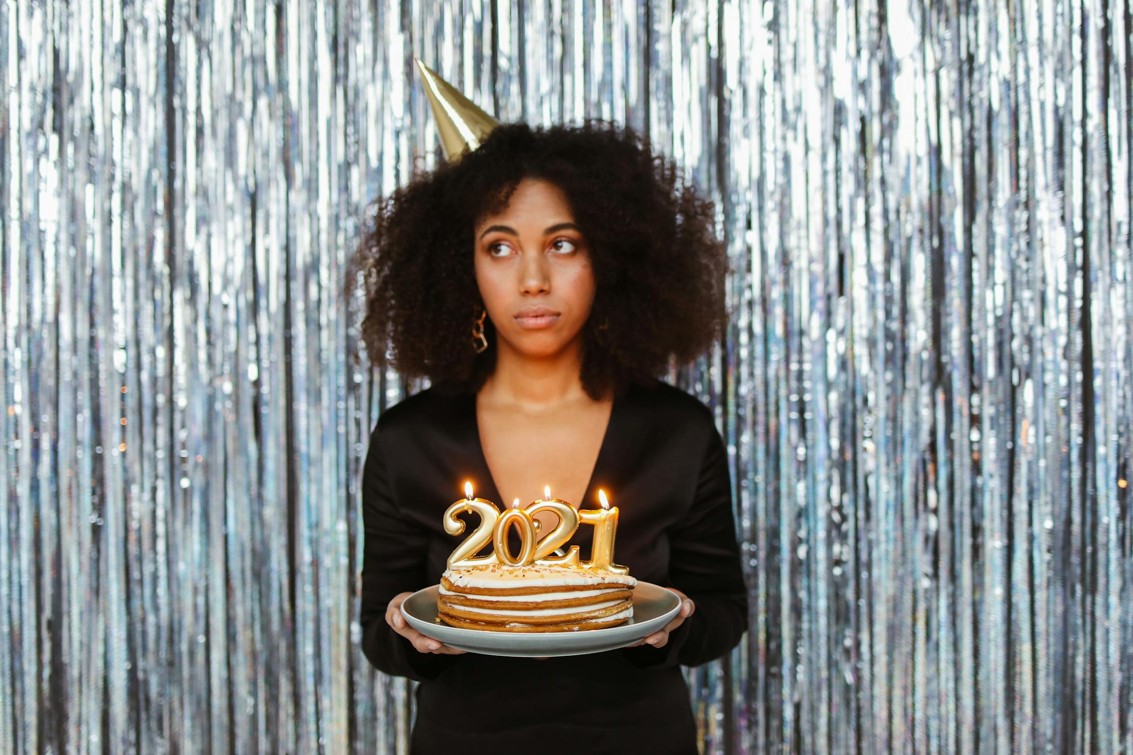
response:
[[[523,179],[475,229],[476,283],[497,336],[529,357],[570,344],[594,302],[589,250],[554,183]]]

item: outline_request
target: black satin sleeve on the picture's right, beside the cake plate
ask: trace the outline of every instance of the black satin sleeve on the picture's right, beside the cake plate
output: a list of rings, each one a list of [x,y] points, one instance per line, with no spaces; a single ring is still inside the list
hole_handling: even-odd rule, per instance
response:
[[[670,527],[671,586],[696,604],[662,647],[622,649],[639,668],[700,666],[727,653],[748,628],[748,591],[732,516],[727,452],[713,424],[688,514]]]

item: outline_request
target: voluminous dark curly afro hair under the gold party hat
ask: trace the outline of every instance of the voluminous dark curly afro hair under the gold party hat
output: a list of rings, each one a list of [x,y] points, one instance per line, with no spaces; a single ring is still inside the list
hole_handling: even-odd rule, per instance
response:
[[[483,308],[472,230],[525,178],[556,185],[587,240],[596,283],[581,349],[588,395],[649,385],[671,360],[688,363],[712,348],[727,319],[729,272],[712,200],[633,129],[587,119],[503,123],[459,161],[440,161],[372,203],[346,282],[348,295],[365,285],[372,363],[427,377],[442,393],[484,385],[496,349],[472,349]],[[484,333],[494,344],[491,320]]]

